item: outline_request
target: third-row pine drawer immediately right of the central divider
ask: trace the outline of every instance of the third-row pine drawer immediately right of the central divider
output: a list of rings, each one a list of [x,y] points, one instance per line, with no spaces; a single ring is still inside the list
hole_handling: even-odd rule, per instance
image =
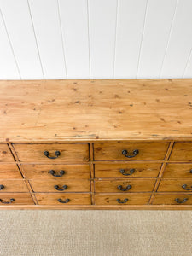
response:
[[[96,192],[148,192],[153,191],[156,179],[119,179],[95,181]]]

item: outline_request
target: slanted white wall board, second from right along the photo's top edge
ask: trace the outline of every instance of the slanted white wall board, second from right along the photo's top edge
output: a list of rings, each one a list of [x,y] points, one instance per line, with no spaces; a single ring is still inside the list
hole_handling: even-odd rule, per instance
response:
[[[158,78],[177,0],[148,0],[137,78]]]

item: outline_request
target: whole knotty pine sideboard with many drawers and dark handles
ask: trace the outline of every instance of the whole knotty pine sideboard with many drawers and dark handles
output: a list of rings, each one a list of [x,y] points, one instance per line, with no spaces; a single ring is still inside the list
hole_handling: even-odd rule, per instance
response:
[[[192,79],[0,81],[0,209],[192,209]]]

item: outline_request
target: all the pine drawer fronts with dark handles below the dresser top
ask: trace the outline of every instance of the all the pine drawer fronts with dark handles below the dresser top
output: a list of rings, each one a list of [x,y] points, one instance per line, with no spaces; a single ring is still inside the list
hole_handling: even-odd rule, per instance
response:
[[[20,169],[9,146],[0,144],[0,203],[190,205],[192,143],[174,144],[159,177],[168,146],[94,143],[91,176],[89,143],[13,144]]]

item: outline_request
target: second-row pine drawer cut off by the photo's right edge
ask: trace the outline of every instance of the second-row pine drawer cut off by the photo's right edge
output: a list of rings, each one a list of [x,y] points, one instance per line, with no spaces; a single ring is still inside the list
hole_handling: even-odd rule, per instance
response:
[[[192,178],[192,164],[168,164],[163,177]]]

